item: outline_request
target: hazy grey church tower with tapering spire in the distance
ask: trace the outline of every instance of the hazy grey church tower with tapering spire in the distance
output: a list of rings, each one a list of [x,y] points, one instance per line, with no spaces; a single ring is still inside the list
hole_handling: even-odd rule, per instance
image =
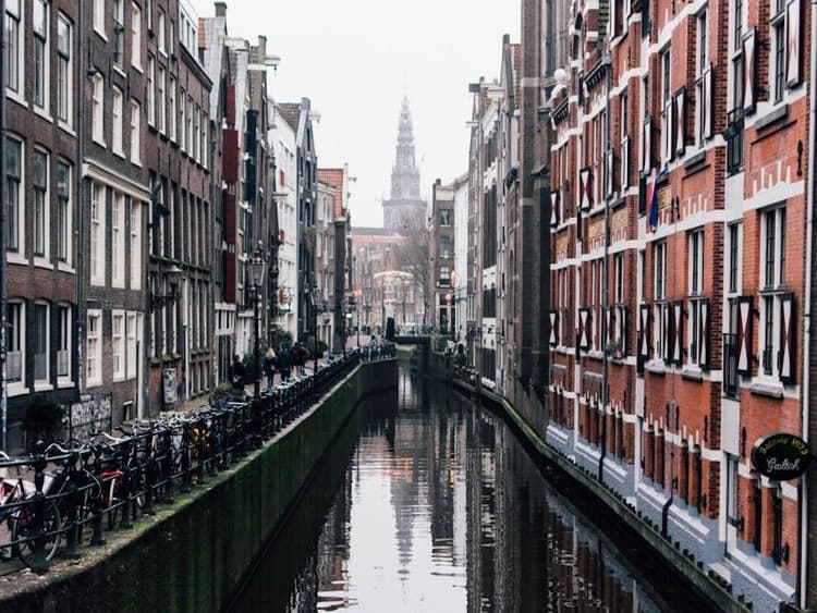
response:
[[[391,197],[383,201],[386,228],[416,231],[425,224],[426,203],[419,197],[419,169],[414,158],[414,132],[408,98],[403,97],[398,126],[398,146],[391,169]]]

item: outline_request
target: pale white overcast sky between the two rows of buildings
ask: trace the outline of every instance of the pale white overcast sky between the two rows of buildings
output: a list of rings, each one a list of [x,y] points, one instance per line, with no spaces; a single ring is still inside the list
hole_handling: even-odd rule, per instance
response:
[[[228,0],[230,35],[281,57],[277,101],[312,99],[318,164],[349,163],[353,225],[382,225],[400,103],[408,96],[420,194],[467,170],[468,83],[499,78],[502,35],[520,40],[521,0]],[[193,0],[199,16],[214,3]]]

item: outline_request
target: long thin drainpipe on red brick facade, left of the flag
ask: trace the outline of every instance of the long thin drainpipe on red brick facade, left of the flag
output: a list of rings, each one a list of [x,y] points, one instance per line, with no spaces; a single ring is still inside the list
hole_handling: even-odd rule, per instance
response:
[[[611,155],[610,151],[610,122],[612,117],[610,113],[610,87],[612,81],[612,57],[609,51],[601,53],[601,65],[605,68],[607,78],[607,93],[605,100],[605,159],[602,160],[602,176],[603,188],[605,188],[605,256],[601,260],[601,342],[603,343],[601,352],[601,436],[599,446],[601,453],[598,458],[598,480],[605,482],[605,457],[607,456],[607,404],[609,402],[607,389],[608,389],[608,371],[609,361],[607,356],[607,336],[610,331],[607,329],[607,312],[610,309],[610,281],[609,277],[609,262],[610,256],[610,185],[612,183],[612,176],[610,176],[610,167],[608,163],[608,157]]]

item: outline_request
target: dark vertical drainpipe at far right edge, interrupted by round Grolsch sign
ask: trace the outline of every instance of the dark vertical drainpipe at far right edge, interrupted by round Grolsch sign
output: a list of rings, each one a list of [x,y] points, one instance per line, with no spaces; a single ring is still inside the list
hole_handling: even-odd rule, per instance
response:
[[[814,281],[814,274],[812,272],[812,250],[814,249],[812,233],[814,232],[814,213],[812,203],[815,198],[815,173],[812,170],[814,168],[815,159],[817,159],[817,150],[815,147],[815,126],[817,126],[817,0],[812,0],[812,12],[809,22],[812,23],[812,37],[810,37],[810,49],[808,53],[808,175],[806,183],[806,283],[804,292],[804,317],[803,317],[803,391],[802,402],[803,407],[803,439],[808,441],[808,428],[809,428],[809,415],[808,404],[810,400],[810,377],[808,369],[812,363],[810,356],[810,344],[812,344],[812,282]],[[808,502],[806,496],[808,495],[808,478],[803,475],[800,480],[800,487],[797,488],[797,505],[800,507],[800,520],[797,523],[797,532],[800,540],[800,568],[797,569],[796,577],[796,590],[800,601],[800,606],[805,608],[808,599],[807,589],[807,563],[808,563],[808,530],[805,529],[806,523],[808,522]]]

